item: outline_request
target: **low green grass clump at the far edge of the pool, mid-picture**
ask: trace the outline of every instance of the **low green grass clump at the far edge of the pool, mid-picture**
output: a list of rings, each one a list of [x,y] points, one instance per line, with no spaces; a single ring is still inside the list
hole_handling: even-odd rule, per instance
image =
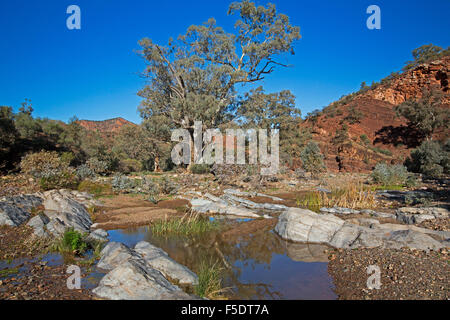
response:
[[[155,235],[199,235],[218,230],[220,225],[217,221],[198,214],[186,213],[181,219],[164,219],[156,221],[151,225],[152,233]]]

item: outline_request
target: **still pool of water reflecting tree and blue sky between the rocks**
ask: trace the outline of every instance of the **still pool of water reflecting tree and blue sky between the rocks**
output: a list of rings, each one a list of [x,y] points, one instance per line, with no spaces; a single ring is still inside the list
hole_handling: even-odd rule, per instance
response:
[[[223,287],[233,299],[334,299],[326,247],[286,242],[269,230],[223,236],[153,236],[149,227],[110,231],[110,240],[133,247],[148,241],[198,272],[202,261],[223,267]]]

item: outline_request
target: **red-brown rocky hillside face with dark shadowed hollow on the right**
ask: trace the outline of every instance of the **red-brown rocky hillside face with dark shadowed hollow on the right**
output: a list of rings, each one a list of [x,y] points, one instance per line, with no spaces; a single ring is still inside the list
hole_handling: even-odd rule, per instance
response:
[[[331,171],[367,172],[379,161],[402,163],[414,147],[414,136],[406,130],[405,120],[396,117],[394,107],[419,99],[423,89],[434,87],[443,93],[443,106],[450,108],[449,75],[450,57],[422,64],[345,103],[330,106],[332,112],[324,111],[304,125],[320,143]],[[357,121],[346,120],[355,113],[359,114]],[[342,123],[348,126],[348,139],[338,145],[333,138]],[[448,130],[437,132],[438,138],[448,135]]]

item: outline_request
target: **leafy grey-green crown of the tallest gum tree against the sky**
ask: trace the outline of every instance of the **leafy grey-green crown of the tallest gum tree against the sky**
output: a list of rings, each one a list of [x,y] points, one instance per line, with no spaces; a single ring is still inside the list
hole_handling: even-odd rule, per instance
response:
[[[140,41],[149,84],[138,93],[144,99],[139,109],[149,127],[167,131],[191,130],[194,121],[208,128],[227,124],[246,99],[237,94],[238,85],[255,84],[286,66],[279,59],[294,54],[300,39],[299,28],[286,15],[274,5],[250,1],[232,3],[228,13],[238,17],[232,34],[211,18],[167,46]]]

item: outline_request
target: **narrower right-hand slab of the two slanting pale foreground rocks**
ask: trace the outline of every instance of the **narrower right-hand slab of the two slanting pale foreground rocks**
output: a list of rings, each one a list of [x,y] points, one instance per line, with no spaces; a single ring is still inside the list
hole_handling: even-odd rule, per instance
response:
[[[198,284],[197,275],[187,267],[171,259],[164,250],[146,241],[136,244],[134,250],[141,255],[148,265],[160,271],[165,277],[173,279],[179,284]]]

